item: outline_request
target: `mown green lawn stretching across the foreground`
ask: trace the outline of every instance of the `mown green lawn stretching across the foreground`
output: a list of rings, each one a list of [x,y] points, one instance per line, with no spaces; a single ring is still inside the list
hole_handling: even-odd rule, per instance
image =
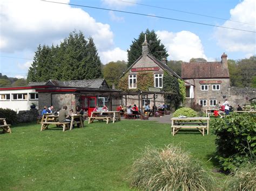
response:
[[[96,122],[65,132],[19,124],[0,134],[0,190],[128,190],[132,163],[148,144],[180,144],[215,172],[214,138],[198,130],[173,137],[170,125],[152,121]],[[213,175],[218,185],[226,179]]]

